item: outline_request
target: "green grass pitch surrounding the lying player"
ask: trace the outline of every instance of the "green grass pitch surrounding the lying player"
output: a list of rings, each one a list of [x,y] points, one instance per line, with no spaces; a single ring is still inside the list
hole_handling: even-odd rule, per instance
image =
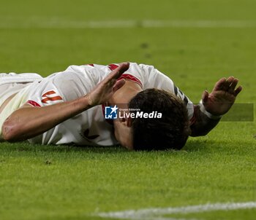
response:
[[[236,76],[244,87],[237,103],[255,103],[255,7],[252,0],[4,1],[0,71],[47,76],[71,64],[129,60],[156,66],[195,103],[220,77]],[[220,122],[180,152],[0,143],[0,219],[96,220],[114,211],[256,202],[255,137],[252,121]],[[235,208],[147,218],[255,216],[256,208]]]

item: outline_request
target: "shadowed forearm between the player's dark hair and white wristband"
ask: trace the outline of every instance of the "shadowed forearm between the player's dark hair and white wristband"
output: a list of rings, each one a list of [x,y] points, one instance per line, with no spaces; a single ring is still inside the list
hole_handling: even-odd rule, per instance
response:
[[[190,126],[191,136],[207,135],[218,123],[219,119],[210,119],[200,111],[200,106],[195,106],[195,122]]]

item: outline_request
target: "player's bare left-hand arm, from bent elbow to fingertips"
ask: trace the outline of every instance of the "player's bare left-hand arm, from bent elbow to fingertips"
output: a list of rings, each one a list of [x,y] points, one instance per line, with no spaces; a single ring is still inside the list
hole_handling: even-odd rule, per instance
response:
[[[32,107],[25,104],[5,120],[2,126],[4,140],[22,141],[32,138],[93,106],[105,103],[116,90],[124,85],[125,80],[117,81],[117,79],[128,68],[129,63],[122,63],[100,82],[91,93],[74,101],[43,107]]]

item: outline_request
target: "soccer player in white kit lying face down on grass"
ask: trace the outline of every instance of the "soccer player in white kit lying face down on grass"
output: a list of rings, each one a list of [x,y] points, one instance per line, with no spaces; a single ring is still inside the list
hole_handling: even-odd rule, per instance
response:
[[[217,125],[241,91],[237,84],[233,76],[220,79],[194,106],[171,79],[144,64],[69,66],[45,78],[0,74],[0,135],[37,144],[181,149],[189,135]],[[106,120],[110,104],[129,109],[120,109],[127,117]],[[143,114],[131,117],[133,109]],[[152,112],[156,118],[145,114]]]

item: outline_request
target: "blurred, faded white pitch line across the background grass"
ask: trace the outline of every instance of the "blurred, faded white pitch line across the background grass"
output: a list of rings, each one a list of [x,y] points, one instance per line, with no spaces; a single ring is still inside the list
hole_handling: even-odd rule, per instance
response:
[[[64,20],[31,17],[22,23],[5,19],[0,28],[256,28],[255,20]]]

